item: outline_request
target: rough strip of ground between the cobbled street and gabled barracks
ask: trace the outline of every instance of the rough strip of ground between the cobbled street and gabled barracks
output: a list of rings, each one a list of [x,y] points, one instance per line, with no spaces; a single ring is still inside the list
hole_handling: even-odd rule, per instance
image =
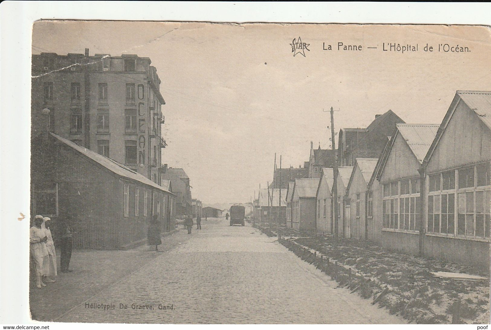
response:
[[[385,290],[378,303],[409,322],[450,324],[455,313],[454,303],[460,302],[456,317],[459,323],[489,323],[489,273],[441,260],[385,251],[366,241],[340,238],[335,245],[332,236],[315,232],[287,229],[274,223],[256,222],[254,226],[268,236],[281,235],[282,239],[278,240],[281,244],[310,263],[319,263],[321,255],[325,261],[328,258],[328,267],[321,265],[329,268],[326,273],[336,277],[340,286],[356,289],[362,298],[373,300]],[[431,274],[438,271],[482,275],[488,280],[456,281]]]

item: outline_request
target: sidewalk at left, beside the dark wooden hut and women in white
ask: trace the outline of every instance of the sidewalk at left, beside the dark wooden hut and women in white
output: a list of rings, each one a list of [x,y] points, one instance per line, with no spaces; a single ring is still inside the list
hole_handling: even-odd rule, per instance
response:
[[[190,239],[182,228],[164,237],[159,251],[165,252]],[[79,303],[100,293],[127,275],[132,274],[155,258],[163,255],[155,246],[141,245],[129,250],[74,249],[70,261],[72,273],[59,270],[60,251],[57,249],[58,275],[55,283],[38,289],[29,283],[31,318],[55,321]]]

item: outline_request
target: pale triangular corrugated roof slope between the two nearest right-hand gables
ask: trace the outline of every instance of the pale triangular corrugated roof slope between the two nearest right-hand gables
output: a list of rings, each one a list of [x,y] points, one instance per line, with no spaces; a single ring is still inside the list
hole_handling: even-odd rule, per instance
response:
[[[433,140],[435,139],[436,132],[438,131],[439,124],[396,124],[401,136],[408,143],[414,156],[419,163],[423,163],[423,160],[430,149]]]

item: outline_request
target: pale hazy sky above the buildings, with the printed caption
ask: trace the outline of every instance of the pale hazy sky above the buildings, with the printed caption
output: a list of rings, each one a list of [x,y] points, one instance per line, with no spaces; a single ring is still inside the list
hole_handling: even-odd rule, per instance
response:
[[[303,56],[293,39],[308,44]],[[338,50],[338,43],[362,46]],[[395,44],[391,51],[388,44]],[[418,46],[397,51],[397,45]],[[433,52],[425,46],[433,46]],[[438,52],[438,45],[469,52]],[[324,50],[331,45],[332,50]],[[376,48],[367,48],[376,47]],[[244,203],[282,167],[303,166],[310,141],[366,127],[387,110],[439,124],[456,90],[491,90],[491,35],[478,26],[39,21],[32,53],[136,54],[162,80],[163,163],[183,167],[192,198]],[[383,49],[388,49],[384,51]],[[294,56],[295,54],[295,56]],[[279,164],[278,164],[279,166]]]

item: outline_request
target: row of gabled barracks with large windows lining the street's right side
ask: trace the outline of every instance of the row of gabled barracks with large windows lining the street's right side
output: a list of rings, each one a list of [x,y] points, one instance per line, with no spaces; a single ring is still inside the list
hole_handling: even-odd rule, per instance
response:
[[[457,91],[440,124],[397,118],[390,111],[371,130],[341,130],[339,235],[489,268],[491,92]],[[383,138],[375,133],[382,127]],[[377,136],[372,144],[368,131]],[[312,172],[321,172],[315,184],[296,179],[288,187],[286,225],[334,233],[333,169]],[[314,193],[306,188],[314,185]]]

